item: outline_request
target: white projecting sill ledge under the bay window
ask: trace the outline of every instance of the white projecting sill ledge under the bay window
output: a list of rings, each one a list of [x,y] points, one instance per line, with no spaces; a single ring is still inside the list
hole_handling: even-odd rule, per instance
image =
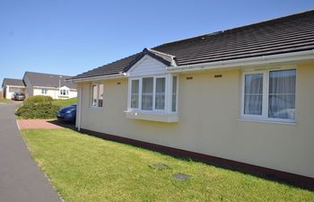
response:
[[[161,112],[125,111],[127,119],[152,120],[166,123],[179,122],[179,114],[166,114]]]

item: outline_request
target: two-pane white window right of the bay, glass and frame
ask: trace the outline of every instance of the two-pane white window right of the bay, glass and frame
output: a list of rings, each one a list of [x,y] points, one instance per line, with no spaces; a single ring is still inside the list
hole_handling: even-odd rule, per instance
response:
[[[294,121],[295,69],[245,73],[243,80],[243,117]]]

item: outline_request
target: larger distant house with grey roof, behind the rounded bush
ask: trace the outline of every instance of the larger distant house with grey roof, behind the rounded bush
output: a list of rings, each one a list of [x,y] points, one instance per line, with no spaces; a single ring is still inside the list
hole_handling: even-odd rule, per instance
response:
[[[66,82],[69,75],[52,75],[36,72],[25,72],[23,82],[26,95],[46,95],[53,99],[69,99],[77,96],[76,84]]]

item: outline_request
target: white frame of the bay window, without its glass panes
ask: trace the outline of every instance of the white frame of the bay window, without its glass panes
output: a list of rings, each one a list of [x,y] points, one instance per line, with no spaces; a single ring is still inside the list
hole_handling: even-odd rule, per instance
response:
[[[172,103],[172,76],[177,76],[177,96],[176,96],[176,111],[171,110]],[[143,89],[143,78],[153,78],[153,110],[142,110],[142,89]],[[164,78],[165,79],[165,103],[164,110],[158,110],[155,107],[156,99],[156,79]],[[132,108],[131,96],[132,96],[132,81],[138,80],[138,106],[137,108]],[[142,75],[136,77],[129,77],[128,79],[128,94],[127,94],[127,111],[137,111],[144,113],[153,113],[153,114],[177,114],[178,113],[178,94],[179,94],[179,75]]]

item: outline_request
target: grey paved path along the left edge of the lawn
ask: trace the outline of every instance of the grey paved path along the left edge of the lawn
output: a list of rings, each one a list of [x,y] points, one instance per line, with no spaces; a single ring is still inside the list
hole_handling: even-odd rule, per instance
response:
[[[16,126],[14,104],[0,105],[0,201],[61,202]]]

